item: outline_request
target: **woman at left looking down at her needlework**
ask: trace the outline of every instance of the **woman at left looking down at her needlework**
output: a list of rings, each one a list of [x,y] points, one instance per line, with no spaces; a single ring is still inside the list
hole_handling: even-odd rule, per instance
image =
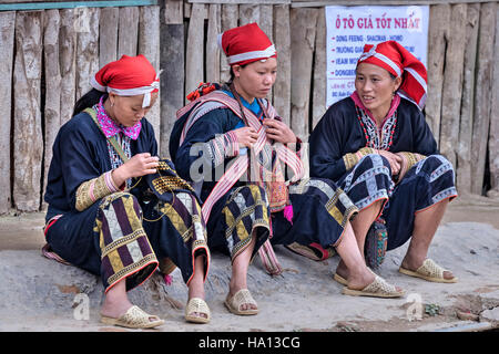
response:
[[[176,266],[189,285],[185,319],[206,323],[210,252],[201,207],[173,165],[156,156],[154,131],[144,117],[157,98],[155,70],[143,55],[123,55],[103,66],[91,85],[53,144],[44,254],[100,274],[102,322],[128,327],[163,324],[132,305],[126,292],[157,267],[167,273]],[[160,192],[154,185],[160,176],[144,183],[166,173],[166,190],[174,192]]]

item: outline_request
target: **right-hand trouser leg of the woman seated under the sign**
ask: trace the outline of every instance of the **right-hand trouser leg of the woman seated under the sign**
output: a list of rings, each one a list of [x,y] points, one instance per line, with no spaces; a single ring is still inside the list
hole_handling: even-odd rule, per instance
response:
[[[457,196],[455,170],[441,155],[431,155],[418,162],[397,184],[383,211],[391,250],[403,246],[411,236],[416,214],[437,202]]]

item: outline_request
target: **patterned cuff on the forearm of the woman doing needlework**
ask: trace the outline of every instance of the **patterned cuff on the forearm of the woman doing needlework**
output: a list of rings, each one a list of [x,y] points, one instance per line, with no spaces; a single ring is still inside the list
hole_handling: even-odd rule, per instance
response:
[[[82,183],[80,187],[78,187],[75,205],[78,211],[83,211],[96,200],[120,190],[120,188],[114,185],[111,173],[112,170],[106,171],[96,178]]]

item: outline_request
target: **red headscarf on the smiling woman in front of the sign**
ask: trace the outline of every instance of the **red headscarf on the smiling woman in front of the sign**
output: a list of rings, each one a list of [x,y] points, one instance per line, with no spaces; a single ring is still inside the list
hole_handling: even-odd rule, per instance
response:
[[[401,44],[396,41],[386,41],[374,45],[366,44],[357,65],[360,63],[378,65],[395,76],[401,76],[399,94],[422,110],[427,94],[426,67]]]

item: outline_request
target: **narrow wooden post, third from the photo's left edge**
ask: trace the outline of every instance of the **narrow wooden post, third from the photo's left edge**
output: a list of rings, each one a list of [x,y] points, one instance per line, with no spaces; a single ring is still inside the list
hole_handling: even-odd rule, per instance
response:
[[[59,28],[60,15],[58,10],[48,10],[44,13],[44,157],[43,157],[43,186],[47,187],[49,166],[52,160],[52,146],[61,126],[61,72],[59,69]],[[45,202],[42,200],[42,206]]]

